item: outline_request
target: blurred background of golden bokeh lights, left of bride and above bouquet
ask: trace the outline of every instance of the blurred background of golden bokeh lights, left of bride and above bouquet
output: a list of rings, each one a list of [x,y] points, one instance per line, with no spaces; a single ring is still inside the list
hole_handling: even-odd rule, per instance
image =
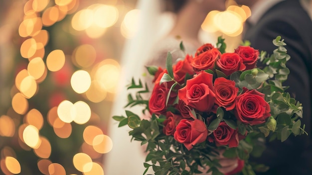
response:
[[[0,174],[104,175],[110,110],[137,0],[0,0]],[[241,42],[250,9],[227,1],[203,42]],[[168,24],[172,14],[161,16]]]

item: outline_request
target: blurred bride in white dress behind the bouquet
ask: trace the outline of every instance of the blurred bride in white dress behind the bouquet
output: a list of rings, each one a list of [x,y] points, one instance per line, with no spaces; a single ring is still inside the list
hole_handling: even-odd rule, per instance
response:
[[[176,14],[170,30],[165,30],[163,25],[168,22],[159,17],[163,6],[173,7],[170,10]],[[147,72],[146,65],[164,67],[168,51],[172,51],[173,60],[184,58],[185,53],[195,53],[204,43],[198,38],[203,20],[211,10],[224,10],[225,0],[138,0],[138,8],[141,10],[139,30],[133,39],[126,42],[124,48],[119,91],[111,116],[125,116],[123,107],[127,104],[126,85],[131,83],[133,77],[136,81],[143,79],[143,73]],[[185,52],[179,51],[181,41]],[[140,115],[141,109],[131,108],[131,111],[134,110]],[[113,149],[104,155],[105,175],[142,175],[145,171],[143,163],[146,154],[140,142],[130,142],[129,131],[128,126],[118,128],[118,122],[111,120],[108,135],[113,141]],[[151,168],[148,174],[153,174]]]

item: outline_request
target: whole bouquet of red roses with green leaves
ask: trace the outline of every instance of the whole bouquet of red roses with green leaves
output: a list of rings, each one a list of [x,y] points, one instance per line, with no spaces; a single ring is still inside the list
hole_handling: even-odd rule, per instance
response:
[[[244,44],[228,53],[219,37],[216,46],[204,44],[175,64],[168,52],[165,68],[147,67],[154,76],[152,93],[141,80],[132,80],[128,89],[140,90],[128,95],[126,107],[143,105],[142,114],[148,111],[151,118],[141,119],[130,110],[113,118],[119,127],[132,128],[132,139],[147,144],[146,162],[151,163],[144,163],[143,175],[150,167],[155,175],[222,175],[220,153],[238,160],[231,175],[254,175],[254,169],[266,169],[248,161],[250,154],[263,151],[253,149],[256,140],[284,142],[291,134],[307,134],[300,120],[302,105],[282,85],[289,74],[286,44],[280,36],[273,44],[277,49],[270,57]],[[257,68],[257,61],[266,66]]]

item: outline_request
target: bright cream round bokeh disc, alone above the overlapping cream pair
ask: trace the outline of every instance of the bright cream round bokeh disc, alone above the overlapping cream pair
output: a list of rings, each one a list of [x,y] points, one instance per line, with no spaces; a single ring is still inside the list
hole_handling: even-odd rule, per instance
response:
[[[85,70],[78,70],[73,73],[70,79],[71,87],[78,94],[86,92],[91,85],[90,74]]]

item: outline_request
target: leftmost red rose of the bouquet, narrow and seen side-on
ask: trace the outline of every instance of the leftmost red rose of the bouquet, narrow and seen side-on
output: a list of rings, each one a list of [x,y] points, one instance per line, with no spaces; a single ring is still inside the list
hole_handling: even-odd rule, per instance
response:
[[[165,87],[165,83],[159,85],[155,84],[150,101],[149,109],[150,113],[163,114],[166,112],[166,99],[168,95],[168,89]]]

